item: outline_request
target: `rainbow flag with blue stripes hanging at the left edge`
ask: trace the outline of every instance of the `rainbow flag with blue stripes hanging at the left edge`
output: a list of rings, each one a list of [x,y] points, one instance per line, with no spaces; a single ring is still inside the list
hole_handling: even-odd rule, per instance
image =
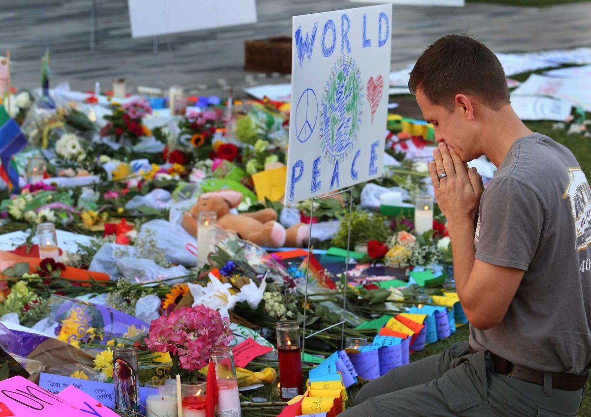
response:
[[[21,192],[18,186],[18,169],[12,156],[21,152],[28,144],[21,127],[0,104],[0,178],[8,184],[8,189],[15,194]]]

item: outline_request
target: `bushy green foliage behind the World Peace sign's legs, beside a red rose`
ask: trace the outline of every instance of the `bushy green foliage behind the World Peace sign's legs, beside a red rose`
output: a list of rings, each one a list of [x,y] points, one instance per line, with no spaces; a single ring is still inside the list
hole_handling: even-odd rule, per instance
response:
[[[332,245],[337,248],[347,247],[347,232],[349,228],[349,214],[340,215],[340,228]],[[379,214],[370,214],[366,211],[353,211],[351,213],[351,244],[369,240],[386,242],[391,237],[389,221]]]

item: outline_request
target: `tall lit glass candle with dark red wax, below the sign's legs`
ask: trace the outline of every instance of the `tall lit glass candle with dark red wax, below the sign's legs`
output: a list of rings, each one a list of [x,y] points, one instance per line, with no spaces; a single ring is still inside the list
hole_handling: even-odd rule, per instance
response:
[[[304,393],[301,376],[300,326],[296,321],[277,323],[279,382],[284,401]]]

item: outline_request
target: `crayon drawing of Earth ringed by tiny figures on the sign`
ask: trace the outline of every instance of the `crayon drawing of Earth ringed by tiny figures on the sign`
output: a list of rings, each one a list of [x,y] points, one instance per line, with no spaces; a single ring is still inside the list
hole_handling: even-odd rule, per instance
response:
[[[341,162],[355,146],[362,98],[361,71],[353,58],[340,57],[320,101],[320,149],[330,164]]]

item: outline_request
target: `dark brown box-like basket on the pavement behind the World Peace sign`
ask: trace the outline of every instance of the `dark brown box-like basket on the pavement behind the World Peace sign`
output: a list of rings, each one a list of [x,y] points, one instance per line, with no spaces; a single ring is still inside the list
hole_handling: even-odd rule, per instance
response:
[[[244,69],[264,73],[291,73],[291,38],[277,36],[244,42]]]

